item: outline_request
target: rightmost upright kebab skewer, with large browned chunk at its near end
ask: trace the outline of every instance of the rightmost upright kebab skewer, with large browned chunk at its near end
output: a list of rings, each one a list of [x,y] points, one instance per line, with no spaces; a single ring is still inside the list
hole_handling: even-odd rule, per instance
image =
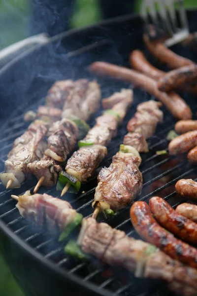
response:
[[[99,172],[93,218],[97,217],[99,210],[110,208],[118,211],[125,208],[141,192],[143,180],[139,170],[139,152],[148,151],[146,139],[155,133],[157,124],[163,120],[160,106],[161,103],[153,100],[137,106],[136,113],[128,122],[130,132],[124,137],[124,145],[113,156],[110,166]]]

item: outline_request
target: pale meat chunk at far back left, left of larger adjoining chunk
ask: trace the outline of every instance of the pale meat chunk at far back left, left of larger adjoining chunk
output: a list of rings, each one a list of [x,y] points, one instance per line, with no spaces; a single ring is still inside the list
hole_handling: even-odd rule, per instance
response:
[[[46,105],[61,109],[74,87],[73,80],[56,81],[48,91]]]

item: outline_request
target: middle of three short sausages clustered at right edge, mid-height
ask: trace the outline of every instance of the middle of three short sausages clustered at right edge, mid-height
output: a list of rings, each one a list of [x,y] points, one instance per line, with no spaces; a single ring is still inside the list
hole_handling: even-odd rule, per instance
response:
[[[168,149],[171,155],[177,155],[185,153],[195,146],[197,146],[197,131],[192,131],[173,139],[169,143]]]

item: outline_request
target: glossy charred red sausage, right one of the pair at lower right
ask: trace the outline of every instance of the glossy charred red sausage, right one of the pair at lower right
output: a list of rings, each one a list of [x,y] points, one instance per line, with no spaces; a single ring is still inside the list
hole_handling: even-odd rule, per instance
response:
[[[197,244],[197,224],[178,214],[161,197],[152,197],[149,207],[156,220],[171,233],[181,239]]]

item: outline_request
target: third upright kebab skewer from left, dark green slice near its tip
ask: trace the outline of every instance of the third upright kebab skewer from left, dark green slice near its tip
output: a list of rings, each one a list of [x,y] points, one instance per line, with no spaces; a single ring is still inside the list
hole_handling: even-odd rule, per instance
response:
[[[67,174],[80,183],[87,182],[100,161],[106,156],[106,146],[116,135],[118,124],[122,122],[126,111],[131,107],[132,100],[132,90],[125,89],[104,100],[105,106],[111,107],[111,110],[105,111],[99,116],[96,119],[96,125],[79,142],[80,148],[67,161],[65,168]],[[66,181],[69,182],[68,179]],[[72,182],[70,184],[72,185]],[[63,189],[61,195],[66,193],[67,188],[68,185]]]

